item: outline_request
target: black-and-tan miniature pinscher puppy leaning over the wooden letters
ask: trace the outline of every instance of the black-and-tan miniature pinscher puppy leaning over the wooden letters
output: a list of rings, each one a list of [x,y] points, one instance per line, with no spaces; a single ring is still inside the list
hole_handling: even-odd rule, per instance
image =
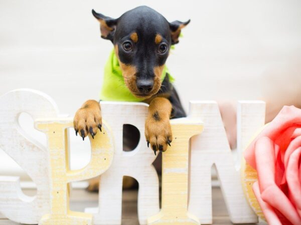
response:
[[[166,151],[173,140],[170,118],[184,117],[186,113],[169,74],[163,74],[162,79],[162,72],[171,45],[179,42],[181,29],[190,20],[168,22],[147,6],[131,9],[116,19],[94,10],[92,13],[100,22],[101,37],[114,45],[126,87],[149,104],[145,121],[147,145],[155,154]],[[83,139],[88,133],[94,138],[97,130],[101,130],[100,104],[87,100],[75,114],[74,129]]]

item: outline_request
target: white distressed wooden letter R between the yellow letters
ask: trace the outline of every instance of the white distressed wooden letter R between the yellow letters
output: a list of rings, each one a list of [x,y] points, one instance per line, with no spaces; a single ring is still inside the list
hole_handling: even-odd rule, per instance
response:
[[[114,136],[114,159],[112,166],[100,177],[99,208],[87,208],[86,211],[95,213],[95,224],[121,224],[122,177],[127,175],[139,183],[138,219],[140,224],[146,224],[146,218],[160,210],[159,178],[152,165],[157,156],[147,148],[144,137],[147,104],[101,102],[101,110]],[[132,151],[123,151],[123,124],[132,124],[140,132],[139,143]]]

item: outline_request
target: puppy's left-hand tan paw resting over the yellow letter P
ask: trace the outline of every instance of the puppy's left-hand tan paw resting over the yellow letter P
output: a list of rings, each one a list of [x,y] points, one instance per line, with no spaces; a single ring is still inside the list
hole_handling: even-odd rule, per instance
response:
[[[102,126],[99,103],[95,100],[87,100],[82,107],[76,111],[73,125],[76,135],[79,133],[83,140],[88,133],[94,138],[97,129],[101,131]]]

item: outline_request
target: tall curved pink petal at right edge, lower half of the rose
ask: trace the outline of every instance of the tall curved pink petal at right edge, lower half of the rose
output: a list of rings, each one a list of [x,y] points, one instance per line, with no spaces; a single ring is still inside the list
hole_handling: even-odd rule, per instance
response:
[[[285,176],[291,194],[291,198],[293,199],[297,213],[301,218],[301,182],[299,180],[299,174],[298,174],[300,157],[301,157],[301,147],[298,147],[289,156],[287,168],[285,171]]]

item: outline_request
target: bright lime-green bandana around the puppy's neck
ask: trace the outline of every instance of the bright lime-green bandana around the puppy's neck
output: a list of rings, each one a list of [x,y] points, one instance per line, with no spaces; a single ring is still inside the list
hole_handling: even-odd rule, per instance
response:
[[[161,80],[165,78],[168,69],[164,66]],[[174,81],[169,72],[169,80]],[[135,97],[124,83],[122,72],[119,66],[118,59],[112,50],[107,63],[104,66],[104,76],[102,88],[100,91],[100,99],[105,101],[142,101],[143,98]]]

